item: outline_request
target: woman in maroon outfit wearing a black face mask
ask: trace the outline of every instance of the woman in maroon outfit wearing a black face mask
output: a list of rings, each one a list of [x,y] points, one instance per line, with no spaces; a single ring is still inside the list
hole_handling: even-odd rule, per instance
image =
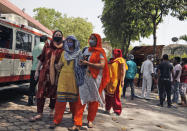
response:
[[[39,63],[35,73],[35,79],[38,79],[38,91],[37,91],[37,113],[38,115],[30,119],[31,122],[40,120],[43,114],[43,108],[45,104],[45,99],[50,98],[50,117],[53,116],[53,109],[56,102],[56,90],[57,90],[57,75],[54,71],[54,67],[50,65],[55,65],[58,63],[61,53],[63,51],[63,34],[60,30],[53,33],[53,38],[50,45],[46,44],[42,51],[42,54],[38,57]],[[52,57],[53,56],[53,57]],[[51,59],[53,58],[53,59]],[[40,70],[41,68],[41,70]],[[40,70],[40,73],[39,73]]]

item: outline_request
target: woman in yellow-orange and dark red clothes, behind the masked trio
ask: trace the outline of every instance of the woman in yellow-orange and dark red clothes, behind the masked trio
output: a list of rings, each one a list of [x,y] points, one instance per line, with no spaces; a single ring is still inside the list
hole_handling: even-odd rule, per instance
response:
[[[120,49],[113,50],[113,58],[110,59],[108,67],[110,82],[105,88],[105,109],[107,113],[110,113],[110,109],[113,108],[114,113],[120,115],[122,111],[120,98],[124,86],[125,73],[128,69]]]

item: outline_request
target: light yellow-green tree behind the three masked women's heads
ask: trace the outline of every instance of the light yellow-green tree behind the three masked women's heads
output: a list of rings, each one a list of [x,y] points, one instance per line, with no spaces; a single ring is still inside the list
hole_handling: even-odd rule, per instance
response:
[[[34,18],[51,30],[59,29],[64,36],[74,35],[80,41],[81,47],[88,44],[88,38],[93,32],[92,23],[80,17],[67,17],[62,13],[49,8],[36,8]]]

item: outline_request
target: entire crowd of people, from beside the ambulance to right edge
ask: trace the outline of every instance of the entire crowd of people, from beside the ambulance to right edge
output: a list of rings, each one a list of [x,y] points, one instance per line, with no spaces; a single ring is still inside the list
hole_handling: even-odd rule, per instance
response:
[[[80,43],[75,36],[67,36],[57,30],[52,40],[41,36],[40,43],[33,49],[33,65],[31,70],[28,106],[33,105],[36,96],[37,115],[30,122],[41,120],[45,99],[50,98],[50,128],[55,128],[63,119],[66,104],[69,103],[74,126],[69,130],[79,130],[82,126],[83,112],[87,105],[87,126],[93,128],[98,107],[105,107],[105,113],[119,116],[122,112],[121,96],[125,98],[126,89],[131,88],[131,100],[134,99],[134,79],[137,65],[134,56],[129,54],[127,61],[120,49],[112,51],[112,58],[107,60],[102,48],[99,34],[93,33],[88,39],[89,47],[80,49]],[[154,72],[152,56],[141,66],[143,75],[142,98],[150,99],[152,80],[158,74],[158,89],[160,106],[167,95],[168,107],[172,102],[178,102],[179,91],[182,104],[186,105],[185,89],[187,85],[187,64],[180,65],[180,59],[175,59],[174,65],[163,55],[163,61]],[[174,67],[173,67],[174,66]],[[173,79],[173,80],[172,80]],[[35,87],[38,89],[35,93]],[[171,102],[171,86],[173,99]],[[145,95],[146,91],[146,95]]]

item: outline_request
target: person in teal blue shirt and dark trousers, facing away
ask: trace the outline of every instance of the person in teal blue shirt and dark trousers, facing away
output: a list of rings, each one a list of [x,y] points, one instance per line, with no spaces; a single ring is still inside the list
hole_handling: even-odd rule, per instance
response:
[[[134,56],[132,54],[129,54],[128,55],[128,60],[127,60],[128,70],[126,72],[125,81],[124,81],[124,88],[123,88],[123,97],[125,98],[126,89],[130,85],[130,87],[131,87],[131,100],[134,99],[134,85],[133,85],[133,82],[134,82],[134,78],[135,78],[136,72],[137,72],[136,63],[133,60],[134,60]]]

